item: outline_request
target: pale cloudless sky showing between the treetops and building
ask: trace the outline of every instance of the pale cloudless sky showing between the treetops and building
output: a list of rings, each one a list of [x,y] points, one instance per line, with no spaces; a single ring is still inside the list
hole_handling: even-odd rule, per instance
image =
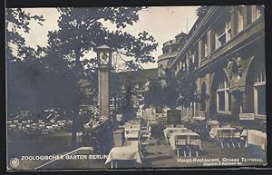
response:
[[[148,10],[139,13],[139,21],[129,25],[127,32],[137,35],[142,31],[147,31],[155,38],[159,44],[157,51],[152,55],[156,61],[162,54],[162,44],[175,38],[181,32],[188,33],[191,26],[197,20],[196,8],[198,6],[152,6]],[[45,46],[47,44],[48,31],[57,30],[57,20],[59,14],[55,8],[27,8],[24,9],[31,15],[43,15],[44,25],[35,22],[30,23],[30,33],[24,34],[25,43],[35,47],[36,45]],[[105,24],[108,26],[107,24]],[[111,26],[108,26],[111,27]],[[94,54],[94,53],[90,53]],[[157,63],[141,64],[145,69],[157,67]]]

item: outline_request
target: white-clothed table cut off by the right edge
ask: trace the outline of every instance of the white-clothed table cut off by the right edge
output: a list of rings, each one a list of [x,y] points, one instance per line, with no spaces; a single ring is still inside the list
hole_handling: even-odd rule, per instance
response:
[[[247,136],[248,132],[248,144],[257,145],[262,150],[266,150],[267,147],[267,133],[257,130],[244,130],[241,133],[241,137]],[[247,145],[246,145],[247,146]]]

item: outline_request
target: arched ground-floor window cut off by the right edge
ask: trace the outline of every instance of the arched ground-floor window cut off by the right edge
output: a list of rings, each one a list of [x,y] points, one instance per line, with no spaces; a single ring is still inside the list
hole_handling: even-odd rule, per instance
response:
[[[258,116],[266,116],[266,71],[257,73],[254,83],[254,112]]]

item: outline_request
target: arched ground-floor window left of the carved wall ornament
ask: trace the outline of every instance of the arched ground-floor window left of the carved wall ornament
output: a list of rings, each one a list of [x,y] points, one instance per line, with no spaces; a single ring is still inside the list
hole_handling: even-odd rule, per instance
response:
[[[231,112],[231,94],[229,93],[229,84],[227,76],[220,79],[217,89],[217,111],[219,113]]]

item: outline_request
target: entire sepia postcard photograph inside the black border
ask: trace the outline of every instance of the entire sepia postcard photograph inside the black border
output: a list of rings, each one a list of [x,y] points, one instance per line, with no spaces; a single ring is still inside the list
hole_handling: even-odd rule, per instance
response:
[[[265,5],[5,8],[6,170],[266,167]]]

